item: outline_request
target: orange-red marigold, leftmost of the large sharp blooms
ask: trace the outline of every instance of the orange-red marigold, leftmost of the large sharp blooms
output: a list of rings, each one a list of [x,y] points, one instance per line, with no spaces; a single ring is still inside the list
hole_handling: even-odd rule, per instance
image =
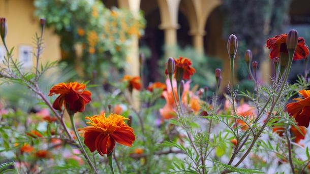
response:
[[[77,82],[59,83],[52,87],[49,96],[60,94],[53,103],[53,108],[62,111],[61,107],[65,106],[67,110],[83,112],[85,105],[91,100],[91,93],[85,90],[86,85]],[[69,108],[67,108],[69,107]]]

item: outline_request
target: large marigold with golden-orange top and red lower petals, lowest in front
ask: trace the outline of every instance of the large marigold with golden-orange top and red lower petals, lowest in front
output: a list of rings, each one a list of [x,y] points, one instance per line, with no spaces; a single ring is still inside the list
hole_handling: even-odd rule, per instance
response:
[[[108,118],[105,115],[86,117],[90,120],[87,126],[80,128],[84,131],[84,143],[90,152],[95,150],[103,156],[113,151],[115,143],[131,147],[136,136],[134,129],[128,126],[124,120],[129,120],[121,115],[110,114]]]

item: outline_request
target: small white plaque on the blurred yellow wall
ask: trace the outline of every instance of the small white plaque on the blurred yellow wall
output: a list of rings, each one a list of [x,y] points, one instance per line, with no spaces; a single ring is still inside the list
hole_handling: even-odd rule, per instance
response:
[[[24,68],[33,67],[33,47],[32,46],[19,46],[19,61]]]

